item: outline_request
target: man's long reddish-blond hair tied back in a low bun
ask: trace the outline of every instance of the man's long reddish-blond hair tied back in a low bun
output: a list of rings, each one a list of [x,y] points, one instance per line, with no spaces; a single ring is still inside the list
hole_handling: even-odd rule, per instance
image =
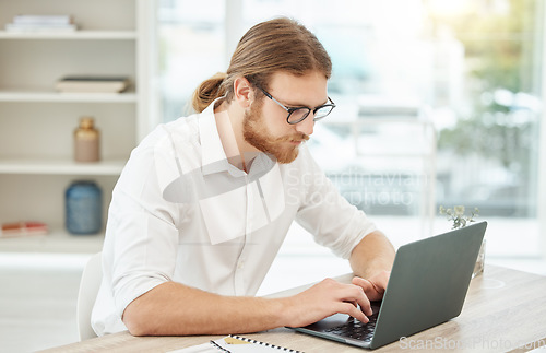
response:
[[[268,90],[274,72],[304,75],[314,70],[328,80],[332,73],[332,61],[309,30],[286,17],[262,22],[239,40],[227,73],[218,72],[199,85],[193,93],[192,106],[201,113],[217,97],[225,95],[227,102],[232,101],[234,81],[238,77]]]

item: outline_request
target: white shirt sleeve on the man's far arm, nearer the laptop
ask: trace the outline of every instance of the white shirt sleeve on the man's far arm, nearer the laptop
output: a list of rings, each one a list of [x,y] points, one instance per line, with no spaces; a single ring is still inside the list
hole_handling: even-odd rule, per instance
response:
[[[353,249],[369,233],[373,222],[341,196],[307,149],[300,149],[301,203],[296,221],[336,256],[348,259]]]

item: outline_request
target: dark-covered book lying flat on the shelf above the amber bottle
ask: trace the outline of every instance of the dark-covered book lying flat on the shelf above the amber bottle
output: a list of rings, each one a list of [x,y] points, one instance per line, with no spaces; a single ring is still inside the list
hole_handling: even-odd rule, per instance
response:
[[[60,92],[120,93],[129,86],[127,77],[66,77],[55,87]]]

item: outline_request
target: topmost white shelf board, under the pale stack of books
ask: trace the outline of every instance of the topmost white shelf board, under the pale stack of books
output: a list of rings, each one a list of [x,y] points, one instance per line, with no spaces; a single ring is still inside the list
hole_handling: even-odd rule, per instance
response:
[[[134,31],[75,31],[75,32],[7,32],[0,31],[0,39],[99,39],[99,40],[133,40]]]

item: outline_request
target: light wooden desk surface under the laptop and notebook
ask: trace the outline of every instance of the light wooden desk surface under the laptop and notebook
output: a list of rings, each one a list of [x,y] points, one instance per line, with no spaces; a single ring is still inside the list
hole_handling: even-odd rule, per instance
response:
[[[349,281],[351,275],[337,280]],[[272,296],[290,295],[308,286]],[[486,266],[484,274],[472,280],[459,317],[372,352],[400,352],[404,349],[525,352],[546,346],[545,293],[546,276]],[[361,349],[285,328],[244,336],[305,352],[363,352]],[[133,337],[124,331],[44,352],[168,352],[221,337]]]

